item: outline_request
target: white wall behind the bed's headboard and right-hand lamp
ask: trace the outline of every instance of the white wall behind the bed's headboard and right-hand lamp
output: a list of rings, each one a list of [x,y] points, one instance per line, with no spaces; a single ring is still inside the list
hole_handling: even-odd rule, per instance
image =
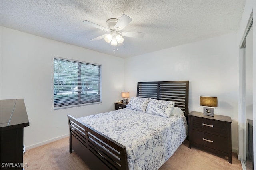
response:
[[[189,43],[125,59],[125,90],[136,96],[140,81],[189,80],[189,112],[203,111],[200,95],[217,96],[214,113],[232,119],[232,148],[238,150],[237,34]]]

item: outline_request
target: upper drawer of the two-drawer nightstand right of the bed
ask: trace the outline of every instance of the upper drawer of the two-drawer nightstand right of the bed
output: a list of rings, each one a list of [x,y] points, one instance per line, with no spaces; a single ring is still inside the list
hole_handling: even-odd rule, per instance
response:
[[[191,119],[191,129],[223,137],[228,136],[228,123],[200,117],[191,117]]]

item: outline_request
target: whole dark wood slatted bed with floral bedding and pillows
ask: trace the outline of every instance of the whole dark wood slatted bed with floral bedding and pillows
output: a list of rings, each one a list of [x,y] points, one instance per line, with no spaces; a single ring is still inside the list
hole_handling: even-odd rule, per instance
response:
[[[91,169],[160,168],[187,136],[188,86],[189,81],[138,82],[137,96],[125,109],[81,118],[68,115],[69,152]],[[156,114],[162,114],[156,105],[170,106],[170,101],[175,107],[168,108],[184,115],[170,116],[169,110],[167,116]]]

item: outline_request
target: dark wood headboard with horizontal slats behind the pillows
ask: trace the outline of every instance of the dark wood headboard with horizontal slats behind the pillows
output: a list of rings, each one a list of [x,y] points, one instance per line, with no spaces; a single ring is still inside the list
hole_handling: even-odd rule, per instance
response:
[[[138,82],[137,97],[174,101],[188,116],[189,81],[154,81]]]

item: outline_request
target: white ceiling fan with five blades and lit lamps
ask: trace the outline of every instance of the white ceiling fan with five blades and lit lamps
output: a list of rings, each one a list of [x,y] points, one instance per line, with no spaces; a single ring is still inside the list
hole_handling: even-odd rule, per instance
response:
[[[121,18],[118,20],[116,18],[110,18],[106,21],[106,24],[108,28],[104,26],[100,26],[98,24],[95,24],[90,21],[83,21],[84,24],[93,26],[95,28],[98,28],[100,30],[104,31],[110,31],[109,34],[103,34],[102,36],[98,36],[96,38],[91,39],[91,41],[97,41],[102,38],[108,43],[111,42],[111,45],[116,46],[122,42],[124,42],[124,37],[132,37],[132,38],[143,38],[144,33],[142,32],[127,32],[127,31],[122,31],[130,22],[132,21],[132,18],[130,18],[127,15],[122,15]],[[121,32],[122,31],[122,32]]]

